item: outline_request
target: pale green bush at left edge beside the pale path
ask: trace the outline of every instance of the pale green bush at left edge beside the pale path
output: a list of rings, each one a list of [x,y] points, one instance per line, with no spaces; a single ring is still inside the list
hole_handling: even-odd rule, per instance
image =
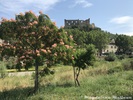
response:
[[[7,69],[5,62],[0,62],[0,78],[5,78],[7,76]]]

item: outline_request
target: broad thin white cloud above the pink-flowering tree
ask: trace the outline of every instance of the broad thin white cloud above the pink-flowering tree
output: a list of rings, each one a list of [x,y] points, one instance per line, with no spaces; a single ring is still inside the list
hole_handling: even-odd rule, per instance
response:
[[[38,13],[40,10],[46,12],[53,8],[61,0],[0,0],[0,17],[9,16],[32,10]]]

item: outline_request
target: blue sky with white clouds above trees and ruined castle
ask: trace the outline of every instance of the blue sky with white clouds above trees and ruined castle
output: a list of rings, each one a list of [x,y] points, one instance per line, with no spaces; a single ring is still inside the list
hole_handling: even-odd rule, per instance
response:
[[[90,18],[91,23],[113,34],[133,36],[133,0],[0,0],[0,18],[32,10],[48,14],[57,26],[64,19]]]

